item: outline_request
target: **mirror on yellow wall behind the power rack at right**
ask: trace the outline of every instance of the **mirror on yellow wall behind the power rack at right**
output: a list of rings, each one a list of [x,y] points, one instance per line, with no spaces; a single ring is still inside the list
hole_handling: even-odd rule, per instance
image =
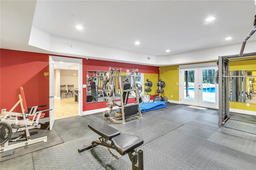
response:
[[[230,76],[230,101],[256,104],[256,70],[234,70]]]

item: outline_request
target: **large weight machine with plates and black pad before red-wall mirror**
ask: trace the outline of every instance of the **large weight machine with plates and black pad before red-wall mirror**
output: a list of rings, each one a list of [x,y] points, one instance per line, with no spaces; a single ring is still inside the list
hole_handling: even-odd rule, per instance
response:
[[[141,85],[139,86],[138,83],[136,83],[136,79],[138,77],[138,69],[132,69],[132,73],[130,75],[121,75],[121,68],[120,69],[114,69],[109,67],[108,76],[106,76],[104,79],[106,80],[106,95],[108,97],[112,97],[112,100],[108,99],[108,108],[110,110],[106,110],[102,113],[104,117],[107,117],[110,121],[114,123],[125,123],[125,118],[138,115],[140,119],[142,119],[142,115],[140,112],[140,102],[142,101],[140,97],[140,91]],[[116,84],[116,89],[120,90],[120,102],[115,102],[115,94],[114,94],[114,87],[113,87],[113,80],[117,79],[118,84]],[[131,85],[131,80],[133,80],[133,83]],[[131,91],[134,91],[136,98],[134,104],[127,104],[129,93]],[[120,107],[122,116],[117,117],[110,117],[113,105],[116,105]]]

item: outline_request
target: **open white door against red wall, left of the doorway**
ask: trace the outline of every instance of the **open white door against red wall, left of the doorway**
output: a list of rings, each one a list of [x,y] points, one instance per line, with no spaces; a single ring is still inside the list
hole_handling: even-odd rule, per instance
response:
[[[54,123],[54,60],[52,57],[49,57],[49,109],[50,111],[50,130],[52,130],[53,123]]]

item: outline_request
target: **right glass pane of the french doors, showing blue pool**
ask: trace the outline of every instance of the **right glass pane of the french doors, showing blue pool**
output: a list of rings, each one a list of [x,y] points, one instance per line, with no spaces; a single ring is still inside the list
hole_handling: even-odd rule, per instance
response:
[[[202,69],[202,102],[216,103],[215,69]]]

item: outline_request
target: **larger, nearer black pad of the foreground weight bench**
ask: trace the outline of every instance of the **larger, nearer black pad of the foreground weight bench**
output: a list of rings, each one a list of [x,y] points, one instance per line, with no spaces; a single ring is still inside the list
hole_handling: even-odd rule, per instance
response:
[[[134,136],[131,134],[120,134],[111,139],[113,145],[116,148],[116,151],[120,155],[127,154],[128,152],[138,148],[140,145],[143,144],[142,138],[138,136]]]

